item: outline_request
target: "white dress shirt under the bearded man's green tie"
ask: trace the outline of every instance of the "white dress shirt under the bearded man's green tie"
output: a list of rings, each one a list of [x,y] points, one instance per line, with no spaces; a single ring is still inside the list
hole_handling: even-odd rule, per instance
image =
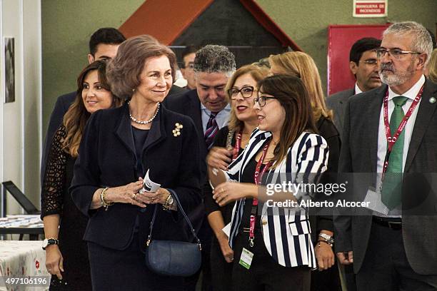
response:
[[[408,100],[406,103],[402,106],[403,112],[406,113],[408,111],[408,108],[410,108],[411,104],[414,101],[414,98],[416,98],[418,92],[421,90],[421,87],[425,83],[425,76],[421,76],[421,78],[416,82],[416,84],[413,85],[413,87],[410,88],[410,90],[406,91],[406,93],[403,93],[401,96],[408,97]],[[390,87],[388,87],[388,120],[391,118],[391,113],[393,113],[394,110],[394,103],[393,98],[396,96],[400,96],[397,93],[394,93]],[[413,133],[414,123],[416,123],[416,117],[418,113],[418,108],[421,106],[421,101],[419,101],[418,105],[414,109],[413,113],[411,114],[411,117],[408,118],[408,122],[406,123],[405,128],[403,128],[403,155],[402,155],[402,171],[405,167],[405,162],[408,154],[408,148],[410,146],[411,141],[411,133]],[[386,128],[384,125],[384,105],[381,106],[381,113],[379,113],[379,128],[378,128],[378,158],[376,162],[376,173],[381,174],[383,172],[383,164],[384,159],[386,158],[387,153],[387,138],[386,138]],[[381,188],[381,175],[378,175],[378,181],[376,183],[377,188]],[[381,214],[378,213],[379,216]],[[388,215],[388,217],[401,217],[401,207],[395,208],[391,210]]]

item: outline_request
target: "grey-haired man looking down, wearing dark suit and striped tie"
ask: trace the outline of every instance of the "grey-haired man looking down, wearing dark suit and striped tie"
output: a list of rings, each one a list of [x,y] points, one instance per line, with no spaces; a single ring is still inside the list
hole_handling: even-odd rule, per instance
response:
[[[194,59],[194,76],[196,89],[182,95],[169,96],[164,101],[164,106],[171,111],[189,116],[193,119],[196,129],[201,137],[200,150],[202,157],[202,173],[206,177],[205,158],[214,141],[214,136],[220,128],[228,123],[231,106],[226,101],[225,86],[228,78],[236,69],[235,56],[226,46],[208,45],[196,52]],[[204,179],[206,183],[206,178]],[[209,188],[209,186],[208,186]],[[204,195],[208,192],[204,189]],[[211,188],[209,188],[211,193]],[[199,231],[202,241],[202,290],[211,290],[210,250],[212,231],[203,205],[194,211],[197,215],[191,216],[193,220],[202,220]],[[186,290],[194,290],[199,274],[187,278]]]

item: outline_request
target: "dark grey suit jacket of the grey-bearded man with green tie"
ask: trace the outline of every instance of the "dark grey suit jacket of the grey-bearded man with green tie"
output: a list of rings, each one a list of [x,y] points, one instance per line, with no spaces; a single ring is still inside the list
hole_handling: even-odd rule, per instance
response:
[[[339,172],[376,173],[378,125],[386,91],[384,85],[349,99]],[[426,205],[431,215],[406,215],[403,210],[402,217],[406,257],[413,270],[423,275],[437,274],[436,193],[425,187],[426,174],[437,173],[437,103],[430,102],[431,96],[437,97],[437,85],[426,80],[403,172],[403,203],[423,195],[430,199]],[[376,176],[368,175],[366,183],[374,186]],[[369,210],[357,209],[356,215],[334,217],[336,252],[353,250],[354,272],[360,270],[372,239],[371,215]]]

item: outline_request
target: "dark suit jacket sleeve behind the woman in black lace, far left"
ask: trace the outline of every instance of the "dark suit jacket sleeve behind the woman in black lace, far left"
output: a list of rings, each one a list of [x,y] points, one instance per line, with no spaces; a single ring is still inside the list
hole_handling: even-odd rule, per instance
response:
[[[41,185],[44,180],[44,174],[46,173],[47,156],[49,155],[51,140],[53,139],[54,134],[58,130],[59,126],[61,126],[61,123],[64,120],[64,115],[69,110],[74,98],[76,98],[76,91],[59,96],[56,100],[55,107],[51,112],[49,127],[47,128],[46,139],[44,140],[41,158]]]

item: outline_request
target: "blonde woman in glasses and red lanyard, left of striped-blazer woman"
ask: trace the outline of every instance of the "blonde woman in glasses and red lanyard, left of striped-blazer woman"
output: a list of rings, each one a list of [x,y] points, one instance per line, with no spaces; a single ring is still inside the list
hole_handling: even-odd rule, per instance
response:
[[[267,68],[248,65],[238,68],[229,79],[226,98],[231,103],[231,114],[228,126],[218,131],[214,147],[209,151],[206,160],[211,167],[226,170],[229,163],[246,147],[252,131],[258,126],[258,116],[253,109],[256,83],[265,78],[267,73]],[[220,207],[212,196],[212,193],[205,195],[206,213],[215,235],[211,243],[212,283],[214,291],[227,291],[231,290],[231,280],[223,278],[231,278],[233,250],[222,229],[231,222],[233,203]]]

